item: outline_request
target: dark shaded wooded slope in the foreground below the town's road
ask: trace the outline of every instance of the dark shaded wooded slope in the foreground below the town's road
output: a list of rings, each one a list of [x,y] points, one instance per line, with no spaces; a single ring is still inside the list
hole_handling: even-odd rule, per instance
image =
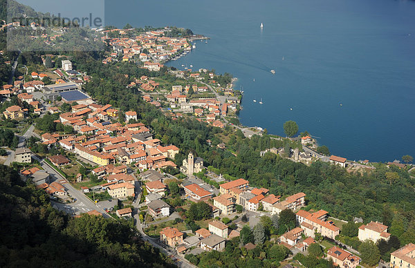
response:
[[[0,165],[0,267],[174,267],[137,231],[102,216],[72,218]]]

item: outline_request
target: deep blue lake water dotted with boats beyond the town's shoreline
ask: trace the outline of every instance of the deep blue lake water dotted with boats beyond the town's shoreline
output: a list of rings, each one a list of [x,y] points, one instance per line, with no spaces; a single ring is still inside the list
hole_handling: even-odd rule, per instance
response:
[[[105,3],[107,25],[178,26],[210,37],[168,65],[238,77],[247,126],[284,135],[282,125],[294,120],[351,160],[415,156],[415,1]]]

